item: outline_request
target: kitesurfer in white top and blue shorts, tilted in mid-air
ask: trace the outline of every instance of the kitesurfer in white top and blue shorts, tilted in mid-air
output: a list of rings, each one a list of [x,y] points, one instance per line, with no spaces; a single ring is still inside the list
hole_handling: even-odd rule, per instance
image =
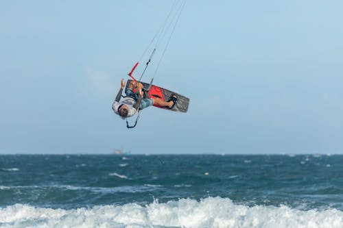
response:
[[[115,98],[115,102],[112,105],[112,109],[115,114],[118,114],[123,119],[133,116],[139,109],[143,110],[145,107],[149,107],[154,104],[162,107],[172,108],[177,101],[175,94],[173,94],[168,101],[163,101],[162,99],[155,97],[143,98],[143,84],[134,80],[132,80],[128,85],[128,88],[126,88],[126,97],[120,101],[124,87],[125,81],[124,79],[121,79],[121,88],[117,94],[117,97]]]

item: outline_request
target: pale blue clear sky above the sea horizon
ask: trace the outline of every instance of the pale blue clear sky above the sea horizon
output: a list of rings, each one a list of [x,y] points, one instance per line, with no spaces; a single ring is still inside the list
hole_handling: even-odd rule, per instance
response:
[[[338,0],[188,0],[143,81],[189,111],[149,107],[126,129],[120,79],[173,3],[1,1],[0,153],[343,153]]]

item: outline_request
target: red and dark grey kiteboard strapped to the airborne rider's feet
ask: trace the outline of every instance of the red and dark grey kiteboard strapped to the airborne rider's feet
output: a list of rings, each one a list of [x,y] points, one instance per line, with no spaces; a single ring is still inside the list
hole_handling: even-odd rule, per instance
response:
[[[126,83],[126,87],[130,84],[132,80],[128,79],[128,82]],[[141,82],[143,84],[144,88],[148,88],[149,84],[145,82]],[[173,92],[171,90],[167,90],[165,88],[161,88],[159,86],[152,85],[149,92],[147,92],[147,98],[159,98],[163,101],[168,101],[169,97],[171,97],[172,94],[175,94],[176,97],[178,97],[178,101],[176,101],[176,105],[172,108],[168,107],[161,107],[159,105],[155,105],[155,107],[163,108],[164,110],[170,110],[174,112],[187,112],[188,106],[189,106],[189,98],[182,96],[181,94],[178,94],[176,92]]]

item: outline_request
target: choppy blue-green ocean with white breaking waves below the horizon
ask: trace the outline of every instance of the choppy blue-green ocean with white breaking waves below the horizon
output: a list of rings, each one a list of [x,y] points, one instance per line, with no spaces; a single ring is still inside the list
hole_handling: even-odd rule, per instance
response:
[[[343,155],[0,155],[0,227],[343,227]]]

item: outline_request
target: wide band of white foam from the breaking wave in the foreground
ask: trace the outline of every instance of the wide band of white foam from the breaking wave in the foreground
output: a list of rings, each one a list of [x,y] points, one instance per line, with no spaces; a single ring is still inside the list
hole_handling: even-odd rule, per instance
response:
[[[302,211],[287,206],[237,205],[230,199],[180,199],[150,205],[104,205],[62,210],[11,205],[0,209],[0,227],[237,227],[342,228],[343,212],[335,209]]]

